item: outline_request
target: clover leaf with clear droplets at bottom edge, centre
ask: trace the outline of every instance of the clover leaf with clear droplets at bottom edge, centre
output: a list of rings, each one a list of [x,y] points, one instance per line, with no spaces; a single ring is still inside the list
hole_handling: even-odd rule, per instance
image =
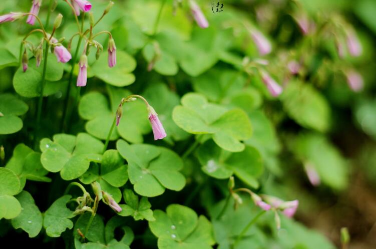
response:
[[[159,249],[210,249],[215,243],[210,221],[189,207],[171,204],[166,212],[155,210],[154,216],[149,227],[158,237]]]

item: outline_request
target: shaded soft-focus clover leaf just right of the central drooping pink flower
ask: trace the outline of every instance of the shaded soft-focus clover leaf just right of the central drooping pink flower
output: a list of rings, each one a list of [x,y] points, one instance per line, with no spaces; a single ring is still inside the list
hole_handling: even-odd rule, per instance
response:
[[[164,140],[172,142],[188,138],[189,133],[181,129],[172,120],[172,110],[179,105],[179,96],[167,88],[165,84],[151,84],[144,92],[143,96],[148,100],[151,106],[158,111],[158,117],[161,120],[168,136]],[[161,98],[161,96],[165,96]]]

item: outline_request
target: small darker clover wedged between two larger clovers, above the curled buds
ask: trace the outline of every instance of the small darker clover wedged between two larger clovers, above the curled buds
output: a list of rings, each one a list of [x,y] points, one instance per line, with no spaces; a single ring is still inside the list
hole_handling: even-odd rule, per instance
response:
[[[99,170],[100,169],[100,170]],[[98,181],[102,190],[112,195],[116,202],[121,199],[119,187],[128,181],[127,165],[117,150],[107,150],[102,157],[101,166],[94,163],[81,177],[80,181],[90,184]]]

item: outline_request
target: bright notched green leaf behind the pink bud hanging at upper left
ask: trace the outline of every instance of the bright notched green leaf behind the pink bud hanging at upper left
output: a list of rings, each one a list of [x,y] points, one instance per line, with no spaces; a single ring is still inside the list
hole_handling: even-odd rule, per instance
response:
[[[117,64],[113,68],[108,67],[106,56],[101,56],[93,65],[94,76],[100,78],[107,84],[124,87],[135,81],[135,76],[131,72],[136,68],[136,61],[132,56],[124,51],[116,52]]]

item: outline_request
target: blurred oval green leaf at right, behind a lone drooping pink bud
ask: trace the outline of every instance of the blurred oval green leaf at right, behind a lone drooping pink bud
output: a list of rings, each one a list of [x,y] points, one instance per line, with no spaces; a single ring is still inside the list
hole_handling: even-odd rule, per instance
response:
[[[319,134],[303,133],[290,148],[302,162],[316,169],[323,183],[334,189],[344,189],[348,184],[348,165],[327,139]]]

